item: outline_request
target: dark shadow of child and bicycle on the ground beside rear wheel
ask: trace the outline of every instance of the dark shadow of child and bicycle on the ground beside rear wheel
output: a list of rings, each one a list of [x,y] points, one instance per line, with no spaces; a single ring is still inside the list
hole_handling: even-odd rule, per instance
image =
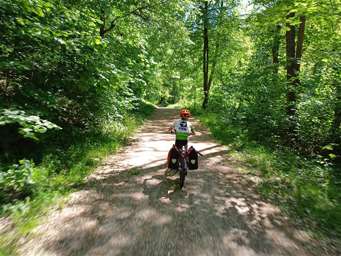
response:
[[[145,178],[142,183],[143,194],[148,195],[148,198],[151,200],[159,198],[169,198],[170,200],[186,198],[188,194],[179,187],[179,178],[169,178],[174,175],[178,175],[178,173],[170,175],[170,172],[166,170],[164,175],[154,175],[151,178]],[[153,181],[156,180],[161,180],[161,182],[154,185],[155,182]]]

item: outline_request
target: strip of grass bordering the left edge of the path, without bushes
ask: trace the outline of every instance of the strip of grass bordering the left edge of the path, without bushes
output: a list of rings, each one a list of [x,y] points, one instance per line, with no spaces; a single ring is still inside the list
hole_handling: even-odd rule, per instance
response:
[[[119,125],[113,124],[96,135],[89,134],[65,151],[45,155],[42,163],[32,168],[35,183],[30,187],[30,196],[1,205],[1,219],[7,225],[0,231],[0,255],[18,255],[21,237],[33,236],[32,231],[44,217],[60,209],[68,195],[81,189],[84,177],[94,172],[106,156],[124,146],[155,109],[152,103],[140,101],[138,108]]]

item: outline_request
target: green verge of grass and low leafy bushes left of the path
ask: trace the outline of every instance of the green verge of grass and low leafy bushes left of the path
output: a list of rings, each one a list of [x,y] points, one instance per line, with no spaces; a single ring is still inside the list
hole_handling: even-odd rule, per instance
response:
[[[1,217],[11,223],[11,228],[1,230],[1,255],[15,254],[15,241],[30,236],[41,217],[60,208],[71,192],[81,189],[85,185],[84,177],[106,156],[125,145],[137,126],[156,108],[149,102],[136,104],[137,108],[119,122],[106,125],[94,134],[84,134],[85,138],[71,143],[66,149],[50,148],[39,164],[33,160],[20,161],[10,167],[13,177],[9,177],[11,172],[2,170],[0,211]],[[16,181],[12,182],[11,178]]]

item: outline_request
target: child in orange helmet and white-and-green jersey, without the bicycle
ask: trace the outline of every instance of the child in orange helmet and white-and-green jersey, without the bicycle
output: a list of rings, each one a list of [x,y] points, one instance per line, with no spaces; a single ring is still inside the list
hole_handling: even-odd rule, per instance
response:
[[[194,135],[194,130],[192,124],[188,121],[190,117],[190,112],[187,109],[183,109],[180,111],[181,120],[173,123],[172,126],[168,129],[167,133],[170,133],[172,129],[176,132],[175,136],[175,146],[177,148],[181,148],[183,145],[186,150],[188,147],[188,137],[189,135]]]

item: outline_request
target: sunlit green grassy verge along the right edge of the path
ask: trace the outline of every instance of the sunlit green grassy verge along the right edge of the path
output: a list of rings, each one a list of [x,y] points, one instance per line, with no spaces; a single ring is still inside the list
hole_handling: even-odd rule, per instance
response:
[[[330,239],[341,237],[340,169],[289,147],[254,141],[245,127],[217,115],[194,114],[210,128],[214,138],[229,145],[235,167],[253,180],[261,197],[298,215],[297,219],[316,234]]]

